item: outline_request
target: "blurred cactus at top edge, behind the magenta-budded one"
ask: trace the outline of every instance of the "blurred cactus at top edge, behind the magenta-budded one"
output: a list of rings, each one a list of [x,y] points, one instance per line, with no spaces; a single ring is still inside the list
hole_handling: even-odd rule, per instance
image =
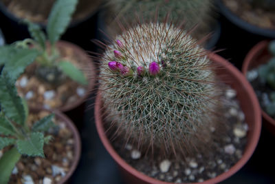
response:
[[[142,17],[144,21],[154,21],[156,13],[157,19],[164,21],[170,12],[169,19],[176,22],[184,21],[186,30],[198,25],[198,28],[192,32],[192,37],[196,39],[208,34],[213,23],[212,0],[115,0],[108,1],[107,5],[110,7],[109,17],[115,17],[130,25],[137,24],[135,17]],[[111,20],[108,24],[110,22]],[[116,21],[113,21],[110,27],[111,31],[115,27],[116,32],[120,33]]]

